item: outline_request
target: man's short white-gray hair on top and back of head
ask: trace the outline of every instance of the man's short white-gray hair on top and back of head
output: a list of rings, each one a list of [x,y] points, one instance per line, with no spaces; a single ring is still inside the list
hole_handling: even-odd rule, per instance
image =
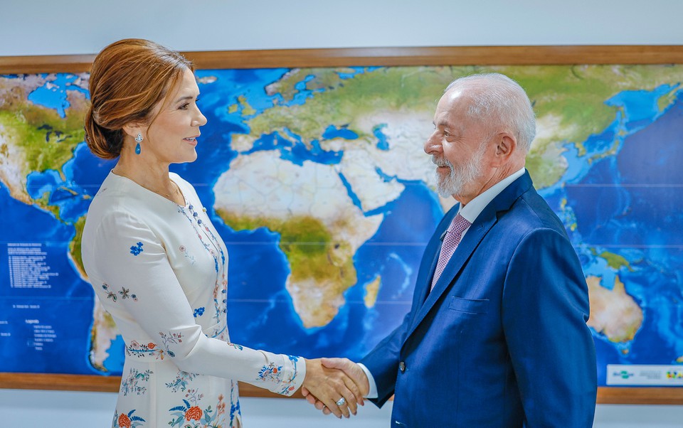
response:
[[[529,151],[536,137],[536,117],[519,83],[500,73],[481,73],[453,80],[444,92],[453,87],[467,88],[471,117],[491,127],[496,123],[509,126],[518,146]]]

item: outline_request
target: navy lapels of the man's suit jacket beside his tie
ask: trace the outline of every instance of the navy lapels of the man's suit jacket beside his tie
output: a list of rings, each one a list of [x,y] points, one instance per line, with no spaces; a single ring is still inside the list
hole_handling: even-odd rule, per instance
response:
[[[448,264],[446,264],[446,267],[443,269],[443,272],[439,277],[439,280],[434,285],[434,289],[430,291],[429,294],[427,294],[430,288],[432,277],[439,257],[439,252],[434,252],[434,255],[432,257],[433,260],[428,271],[428,276],[423,277],[422,275],[418,275],[418,284],[423,285],[425,282],[427,283],[427,286],[423,287],[420,293],[422,295],[418,300],[424,301],[424,304],[419,309],[414,308],[417,309],[417,313],[415,314],[415,317],[412,320],[411,327],[408,329],[408,335],[406,336],[406,338],[411,336],[413,331],[415,331],[415,328],[417,328],[420,325],[420,322],[422,322],[425,316],[427,316],[427,314],[433,308],[436,302],[439,301],[439,299],[445,293],[445,291],[449,289],[455,282],[455,277],[457,277],[457,274],[465,266],[467,260],[470,259],[472,253],[475,252],[477,246],[479,246],[480,242],[485,237],[487,232],[489,232],[493,225],[497,223],[499,217],[498,213],[500,211],[509,210],[514,201],[517,200],[522,193],[529,190],[529,188],[531,188],[532,186],[533,184],[531,183],[531,177],[529,177],[529,172],[526,171],[523,176],[517,178],[517,180],[513,181],[509,186],[507,186],[507,188],[504,188],[503,191],[499,193],[499,195],[496,196],[484,208],[484,210],[482,210],[480,215],[475,219],[475,222],[472,223],[472,226],[470,226],[470,229],[467,230],[467,233],[465,233],[465,236],[462,237],[462,241],[455,249],[455,252],[453,253],[452,257],[450,257],[450,260],[448,261]],[[450,221],[453,217],[455,217],[456,213],[457,206],[448,212],[446,216],[448,218],[444,218],[444,220],[442,220],[436,231],[436,233],[438,233],[439,236],[440,233],[443,232],[442,229],[446,230],[448,228],[448,225],[450,225]],[[448,220],[448,222],[445,223],[445,220]],[[443,226],[443,223],[445,223],[445,226]],[[425,294],[426,299],[424,297]]]

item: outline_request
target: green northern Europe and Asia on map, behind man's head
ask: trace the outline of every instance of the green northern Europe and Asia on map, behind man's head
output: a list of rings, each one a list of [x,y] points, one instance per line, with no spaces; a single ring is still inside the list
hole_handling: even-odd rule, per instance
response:
[[[295,85],[305,81],[314,91],[303,105],[276,105],[248,121],[253,137],[288,128],[302,141],[322,139],[329,125],[345,126],[359,140],[374,141],[360,121],[377,112],[433,114],[444,88],[456,77],[477,72],[496,71],[514,78],[529,94],[536,116],[559,118],[554,138],[538,139],[526,162],[537,188],[556,183],[566,170],[558,161],[566,143],[576,144],[598,134],[615,120],[618,107],[605,101],[623,90],[652,90],[663,84],[677,85],[683,80],[682,65],[515,65],[499,67],[384,67],[366,69],[352,79],[342,80],[340,70],[302,68],[292,70],[269,87],[291,100],[298,92]],[[326,89],[322,92],[315,92]],[[660,99],[665,108],[674,92]],[[426,138],[427,136],[425,136]],[[360,144],[354,141],[354,144]],[[421,141],[420,141],[421,143]],[[416,144],[416,150],[420,150]],[[610,148],[610,154],[614,147]],[[605,154],[606,155],[606,154]],[[594,159],[593,159],[594,160]],[[591,160],[588,160],[591,161]]]

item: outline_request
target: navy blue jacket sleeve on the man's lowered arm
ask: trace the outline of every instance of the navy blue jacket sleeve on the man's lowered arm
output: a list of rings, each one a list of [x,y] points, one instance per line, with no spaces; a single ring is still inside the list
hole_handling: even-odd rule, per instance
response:
[[[596,370],[586,326],[588,289],[565,237],[537,229],[521,240],[509,263],[502,308],[528,426],[591,427]]]

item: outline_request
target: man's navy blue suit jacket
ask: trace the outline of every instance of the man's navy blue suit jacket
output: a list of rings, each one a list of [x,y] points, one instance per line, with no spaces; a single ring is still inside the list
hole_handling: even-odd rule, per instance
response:
[[[592,427],[588,287],[561,221],[524,173],[486,206],[429,291],[446,213],[403,323],[361,360],[392,427]]]

